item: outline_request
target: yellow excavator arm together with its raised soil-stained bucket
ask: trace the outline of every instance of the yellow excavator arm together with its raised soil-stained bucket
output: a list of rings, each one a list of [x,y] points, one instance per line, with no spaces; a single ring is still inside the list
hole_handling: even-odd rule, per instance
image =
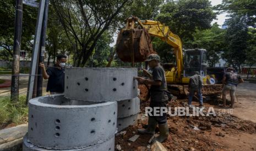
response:
[[[182,42],[176,34],[172,33],[168,26],[159,21],[139,20],[137,17],[127,19],[126,27],[118,34],[117,54],[124,62],[143,62],[152,53],[150,36],[158,37],[171,45],[176,55],[176,69],[172,73],[172,82],[181,82],[183,71]],[[175,79],[174,79],[175,78]]]

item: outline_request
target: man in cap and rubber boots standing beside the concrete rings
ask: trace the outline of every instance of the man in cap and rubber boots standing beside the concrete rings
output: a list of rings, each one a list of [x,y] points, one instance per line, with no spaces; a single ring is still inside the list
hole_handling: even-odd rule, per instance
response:
[[[152,69],[152,79],[145,79],[137,77],[139,83],[151,85],[150,87],[150,107],[166,108],[168,102],[168,96],[166,94],[167,84],[165,78],[165,71],[159,65],[160,57],[157,54],[151,54],[148,56],[149,67]],[[154,141],[164,142],[167,140],[169,131],[167,124],[166,113],[160,115],[149,115],[148,127],[146,129],[138,129],[139,133],[148,133],[154,135],[157,124],[159,125],[160,135],[154,139]],[[158,113],[157,113],[158,114]],[[153,141],[153,142],[154,142]]]

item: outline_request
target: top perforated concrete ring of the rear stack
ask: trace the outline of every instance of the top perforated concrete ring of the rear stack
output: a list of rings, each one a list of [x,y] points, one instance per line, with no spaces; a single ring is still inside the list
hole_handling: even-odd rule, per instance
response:
[[[67,68],[65,96],[74,100],[121,101],[137,97],[137,68]]]

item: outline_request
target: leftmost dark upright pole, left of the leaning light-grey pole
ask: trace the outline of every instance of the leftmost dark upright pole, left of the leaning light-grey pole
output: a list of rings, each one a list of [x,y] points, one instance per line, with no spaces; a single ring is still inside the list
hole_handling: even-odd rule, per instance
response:
[[[23,16],[23,0],[16,1],[14,46],[13,46],[13,70],[10,98],[12,101],[19,101],[19,70],[20,70],[20,47]]]

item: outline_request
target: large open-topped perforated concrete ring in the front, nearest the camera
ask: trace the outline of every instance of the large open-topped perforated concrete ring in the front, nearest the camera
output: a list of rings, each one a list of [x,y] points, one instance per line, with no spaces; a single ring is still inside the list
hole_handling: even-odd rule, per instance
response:
[[[117,102],[75,101],[64,95],[29,101],[30,142],[48,149],[78,149],[115,135]]]

